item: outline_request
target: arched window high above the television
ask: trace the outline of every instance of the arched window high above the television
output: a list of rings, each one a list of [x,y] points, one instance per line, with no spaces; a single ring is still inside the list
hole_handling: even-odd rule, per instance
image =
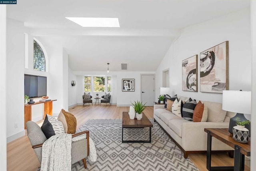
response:
[[[45,72],[44,52],[40,45],[34,40],[34,70]]]

